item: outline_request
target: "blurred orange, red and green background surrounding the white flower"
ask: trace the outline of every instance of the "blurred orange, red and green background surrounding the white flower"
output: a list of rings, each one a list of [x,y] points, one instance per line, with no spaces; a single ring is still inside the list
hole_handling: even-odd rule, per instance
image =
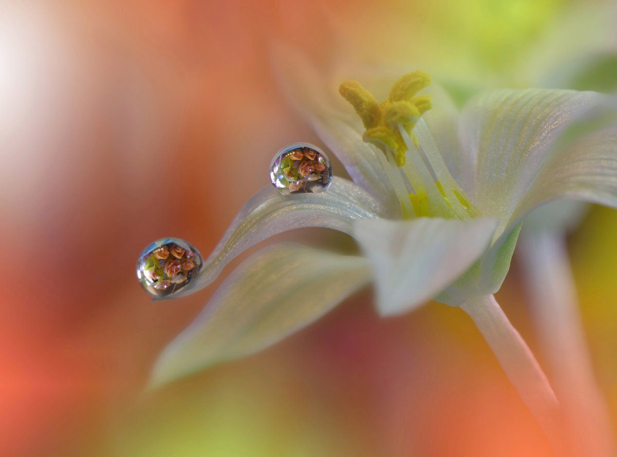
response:
[[[613,91],[614,7],[2,2],[0,455],[552,455],[468,316],[429,303],[379,319],[371,290],[262,353],[143,395],[215,286],[152,303],[134,267],[163,236],[207,255],[280,147],[321,144],[281,96],[272,43],[325,66],[417,63],[458,102],[495,86]],[[592,207],[569,252],[617,432],[616,233],[617,212]],[[497,298],[533,349],[516,263]]]

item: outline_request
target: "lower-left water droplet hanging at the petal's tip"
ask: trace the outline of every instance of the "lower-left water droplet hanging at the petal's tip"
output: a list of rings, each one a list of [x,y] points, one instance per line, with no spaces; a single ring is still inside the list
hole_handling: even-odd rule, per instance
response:
[[[139,284],[154,297],[168,297],[197,277],[204,260],[197,249],[179,238],[162,238],[137,259]]]

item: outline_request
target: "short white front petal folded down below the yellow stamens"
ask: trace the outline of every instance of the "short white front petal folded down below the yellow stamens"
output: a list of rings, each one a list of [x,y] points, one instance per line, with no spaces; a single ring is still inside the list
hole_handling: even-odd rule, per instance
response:
[[[373,264],[382,315],[404,313],[435,297],[484,253],[494,218],[468,221],[357,221],[354,237]]]

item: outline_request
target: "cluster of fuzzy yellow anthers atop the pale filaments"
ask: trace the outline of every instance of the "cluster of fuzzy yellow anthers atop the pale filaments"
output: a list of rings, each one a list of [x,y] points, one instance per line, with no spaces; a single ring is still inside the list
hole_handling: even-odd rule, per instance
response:
[[[366,129],[364,141],[375,144],[386,157],[387,150],[391,150],[397,165],[402,167],[405,165],[407,146],[400,134],[399,125],[412,136],[417,146],[412,130],[420,116],[431,108],[431,99],[429,96],[416,96],[416,93],[430,82],[431,78],[424,72],[401,76],[381,104],[358,81],[345,81],[341,84],[339,93],[362,119]]]

